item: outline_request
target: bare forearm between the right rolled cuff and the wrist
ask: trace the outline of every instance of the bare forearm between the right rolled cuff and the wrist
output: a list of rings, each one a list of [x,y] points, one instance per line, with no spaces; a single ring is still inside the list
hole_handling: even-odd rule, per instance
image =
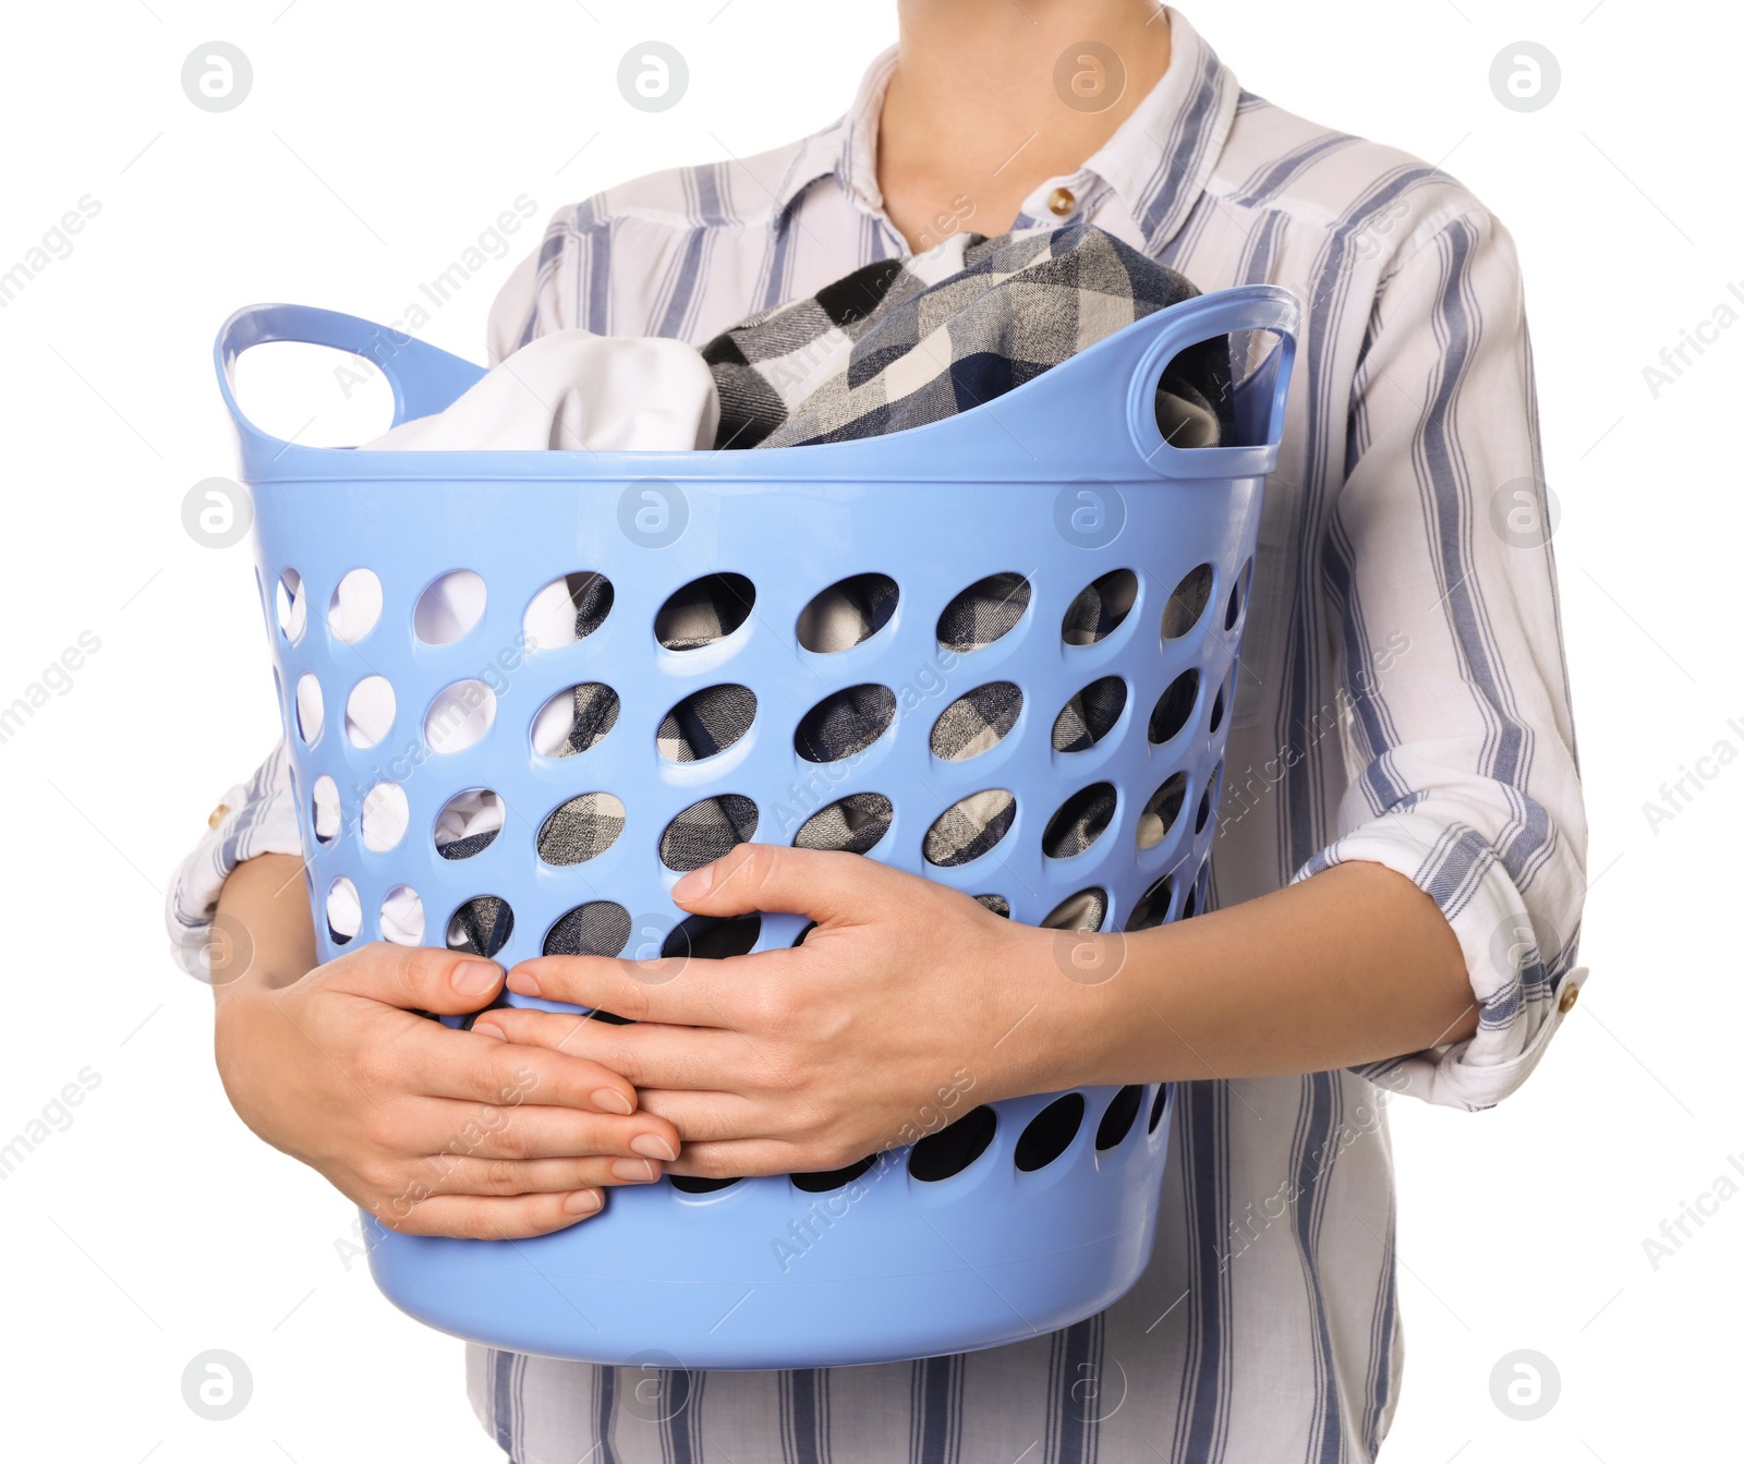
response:
[[[1048,1089],[1311,1073],[1477,1031],[1451,927],[1380,864],[1139,935],[1057,934],[1031,958],[1066,977]]]

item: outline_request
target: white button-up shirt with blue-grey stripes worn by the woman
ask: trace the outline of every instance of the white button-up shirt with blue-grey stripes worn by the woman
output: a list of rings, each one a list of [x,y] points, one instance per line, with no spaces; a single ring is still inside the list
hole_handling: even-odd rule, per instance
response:
[[[1306,307],[1212,900],[1353,859],[1399,871],[1460,939],[1477,1035],[1360,1071],[1182,1084],[1155,1258],[1064,1331],[689,1377],[473,1347],[476,1410],[520,1464],[1331,1464],[1373,1459],[1386,1434],[1402,1356],[1386,1101],[1491,1106],[1585,977],[1521,281],[1509,234],[1446,173],[1243,92],[1179,12],[1170,26],[1163,79],[1017,227],[1090,222],[1202,290],[1266,281]],[[893,65],[814,136],[560,211],[497,302],[492,358],[572,326],[703,342],[905,253],[874,168]],[[190,965],[235,862],[300,853],[281,754],[227,803],[171,893]]]

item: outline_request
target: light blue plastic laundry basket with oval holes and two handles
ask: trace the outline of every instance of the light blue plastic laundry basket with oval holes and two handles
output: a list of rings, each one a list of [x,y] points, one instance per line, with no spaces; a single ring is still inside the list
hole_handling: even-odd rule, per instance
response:
[[[870,859],[999,895],[1032,925],[1087,890],[1102,895],[1104,930],[1193,914],[1205,899],[1236,646],[1298,314],[1294,297],[1271,286],[1188,300],[963,415],[851,443],[358,454],[298,447],[251,426],[232,394],[235,358],[276,340],[364,356],[392,384],[396,422],[439,412],[483,370],[352,316],[293,305],[237,312],[218,337],[218,375],[255,501],[262,607],[303,843],[314,852],[321,958],[345,949],[324,918],[335,879],[358,892],[358,941],[378,937],[384,897],[410,886],[429,944],[443,942],[450,913],[492,895],[513,911],[497,953],[506,965],[537,954],[551,927],[589,902],[621,906],[633,927],[624,953],[652,954],[680,920],[668,895],[678,874],[661,862],[661,834],[717,794],[752,799],[753,838],[774,843],[792,841],[797,822],[832,799],[881,794],[891,822]],[[1226,332],[1266,332],[1275,342],[1263,359],[1254,354],[1236,391],[1240,445],[1177,450],[1156,428],[1156,382],[1182,347]],[[378,578],[382,609],[368,635],[347,642],[324,607],[342,576],[359,569]],[[426,644],[413,607],[455,571],[481,578],[483,614],[460,639]],[[598,630],[525,649],[534,597],[589,571],[614,590]],[[750,581],[752,612],[703,649],[663,647],[654,635],[661,605],[715,572]],[[862,574],[895,581],[895,614],[851,649],[804,649],[795,626],[806,605]],[[944,649],[937,625],[947,602],[996,574],[1027,581],[1015,626],[982,649]],[[1095,583],[1125,614],[1106,639],[1069,644],[1067,609]],[[394,693],[392,726],[358,749],[342,708],[358,682],[377,675]],[[1104,677],[1127,684],[1118,722],[1093,747],[1053,750],[1055,715]],[[312,742],[296,714],[305,679],[324,703]],[[1001,681],[1022,691],[1008,735],[966,761],[933,756],[938,714]],[[490,698],[439,701],[467,682]],[[668,710],[722,682],[755,693],[748,735],[705,761],[663,757],[656,728]],[[537,756],[534,719],[577,684],[617,693],[616,724],[577,756]],[[806,712],[865,684],[896,693],[884,735],[839,764],[800,757],[794,733]],[[474,728],[490,714],[488,731],[462,750],[433,750],[426,714],[438,701],[460,707],[462,719],[469,708]],[[324,820],[324,839],[312,813],[321,778],[333,780],[342,815],[337,834]],[[398,783],[410,811],[408,832],[385,852],[364,846],[358,818],[361,796],[380,782]],[[1052,815],[1095,783],[1116,790],[1111,822],[1085,852],[1046,857]],[[469,859],[445,859],[436,820],[474,789],[501,796],[502,831]],[[1003,839],[957,867],[926,864],[923,839],[940,813],[987,790],[1015,796]],[[586,792],[623,803],[621,836],[584,864],[544,864],[537,831]],[[757,949],[792,944],[800,928],[795,916],[764,916]],[[977,1056],[961,1057],[968,1075]],[[558,1358],[776,1368],[992,1347],[1090,1316],[1137,1281],[1155,1239],[1170,1094],[1167,1085],[1083,1089],[957,1117],[975,1101],[970,1087],[940,1113],[950,1122],[937,1134],[858,1176],[753,1178],[705,1192],[661,1180],[610,1190],[602,1214],[535,1241],[405,1237],[364,1214],[371,1270],[389,1298],[433,1326]]]

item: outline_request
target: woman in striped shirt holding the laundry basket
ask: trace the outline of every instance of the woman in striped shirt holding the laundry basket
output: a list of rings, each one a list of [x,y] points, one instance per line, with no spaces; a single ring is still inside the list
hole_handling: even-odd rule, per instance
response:
[[[1085,984],[1046,932],[940,886],[741,846],[675,899],[809,914],[800,951],[719,986],[542,958],[509,988],[642,1024],[497,1010],[453,1033],[413,1012],[476,1010],[495,965],[375,946],[314,968],[276,757],[183,867],[178,942],[192,961],[215,899],[253,942],[216,988],[249,1125],[417,1234],[542,1234],[666,1171],[848,1164],[970,1049],[982,1101],[1181,1084],[1156,1256],[1104,1314],[828,1372],[474,1347],[474,1403],[520,1464],[1371,1459],[1400,1358],[1381,1099],[1500,1101],[1584,979],[1585,825],[1512,244],[1437,169],[1242,92],[1177,12],[900,0],[900,17],[837,126],[562,211],[497,302],[492,352],[570,326],[703,342],[959,229],[1088,222],[1202,290],[1294,290],[1214,913],[1130,937],[1120,979]],[[509,1071],[539,1101],[453,1153]]]

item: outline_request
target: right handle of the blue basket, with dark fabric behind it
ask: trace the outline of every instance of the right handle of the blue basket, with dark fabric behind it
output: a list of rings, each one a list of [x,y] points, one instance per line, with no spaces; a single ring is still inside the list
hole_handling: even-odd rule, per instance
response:
[[[1284,434],[1284,407],[1296,361],[1301,304],[1277,284],[1242,284],[1200,295],[1158,316],[1160,328],[1132,368],[1127,391],[1127,428],[1132,445],[1151,468],[1170,478],[1240,478],[1277,466]],[[1249,445],[1181,448],[1163,440],[1156,426],[1156,384],[1168,363],[1189,345],[1238,330],[1270,330],[1277,349],[1242,382],[1238,415],[1249,419]]]

